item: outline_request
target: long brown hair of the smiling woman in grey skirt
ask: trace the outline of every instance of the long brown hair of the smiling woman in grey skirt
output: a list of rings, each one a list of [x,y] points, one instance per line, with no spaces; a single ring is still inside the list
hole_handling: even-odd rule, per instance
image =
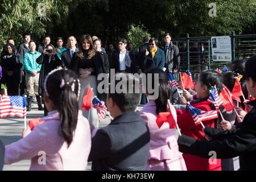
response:
[[[87,39],[90,42],[88,57],[86,57],[86,59],[91,59],[96,54],[96,48],[93,46],[92,38],[90,37],[90,35],[87,35],[87,34],[82,35],[80,39],[79,52],[77,52],[77,56],[79,56],[81,59],[84,59],[84,53],[83,53],[84,48],[82,48],[82,43],[84,42],[85,39]]]

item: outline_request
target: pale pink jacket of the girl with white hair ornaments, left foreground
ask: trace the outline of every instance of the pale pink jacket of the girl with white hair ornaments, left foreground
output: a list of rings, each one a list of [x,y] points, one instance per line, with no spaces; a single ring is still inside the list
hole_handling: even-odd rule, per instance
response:
[[[51,111],[41,119],[45,122],[35,126],[27,137],[5,147],[5,164],[31,159],[30,170],[85,170],[91,135],[89,122],[82,112],[79,111],[75,135],[69,148],[59,134],[59,113]]]

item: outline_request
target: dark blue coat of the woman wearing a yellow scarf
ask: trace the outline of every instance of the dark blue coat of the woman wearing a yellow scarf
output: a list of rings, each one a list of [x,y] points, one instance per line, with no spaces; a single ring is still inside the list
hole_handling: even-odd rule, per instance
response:
[[[163,69],[165,61],[166,61],[166,56],[164,56],[164,51],[158,47],[158,50],[156,51],[154,58],[152,58],[151,53],[149,53],[144,58],[142,71],[146,72],[147,70],[150,70],[152,68]]]

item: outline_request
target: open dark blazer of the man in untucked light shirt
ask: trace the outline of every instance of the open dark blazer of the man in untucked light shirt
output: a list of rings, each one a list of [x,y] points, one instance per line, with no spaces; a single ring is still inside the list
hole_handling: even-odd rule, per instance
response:
[[[112,64],[113,64],[113,68],[115,69],[115,73],[120,72],[119,53],[120,53],[120,50],[115,50],[112,55]],[[126,57],[125,58],[125,64],[126,64],[125,72],[137,73],[137,68],[136,68],[137,60],[136,60],[135,53],[133,51],[130,52],[130,51],[126,50],[125,57]]]

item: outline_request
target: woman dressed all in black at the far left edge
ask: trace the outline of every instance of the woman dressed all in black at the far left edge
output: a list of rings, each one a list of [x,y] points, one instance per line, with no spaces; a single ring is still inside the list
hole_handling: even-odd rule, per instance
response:
[[[9,96],[19,95],[19,85],[22,79],[22,59],[13,44],[7,43],[1,57],[2,79],[6,84]]]

